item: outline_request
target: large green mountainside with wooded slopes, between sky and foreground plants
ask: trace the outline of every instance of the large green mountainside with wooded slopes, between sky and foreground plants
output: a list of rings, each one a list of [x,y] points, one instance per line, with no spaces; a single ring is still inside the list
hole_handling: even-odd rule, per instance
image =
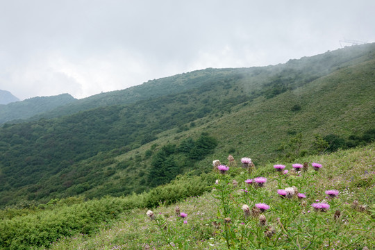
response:
[[[228,154],[258,165],[367,144],[374,69],[375,44],[365,44],[179,74],[4,124],[0,205],[140,193]]]

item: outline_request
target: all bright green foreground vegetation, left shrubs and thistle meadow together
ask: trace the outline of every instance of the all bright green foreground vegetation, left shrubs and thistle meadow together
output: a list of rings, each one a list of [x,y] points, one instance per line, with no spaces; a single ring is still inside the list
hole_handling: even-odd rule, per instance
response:
[[[229,158],[222,160],[229,167],[224,174],[185,175],[144,194],[91,201],[72,197],[1,210],[1,247],[372,249],[374,146],[299,158],[297,171],[284,163],[288,174],[272,164],[249,171],[240,159]],[[313,163],[322,167],[314,170]],[[269,209],[254,208],[258,203]],[[314,208],[314,203],[329,206]],[[153,211],[151,219],[147,210]]]

